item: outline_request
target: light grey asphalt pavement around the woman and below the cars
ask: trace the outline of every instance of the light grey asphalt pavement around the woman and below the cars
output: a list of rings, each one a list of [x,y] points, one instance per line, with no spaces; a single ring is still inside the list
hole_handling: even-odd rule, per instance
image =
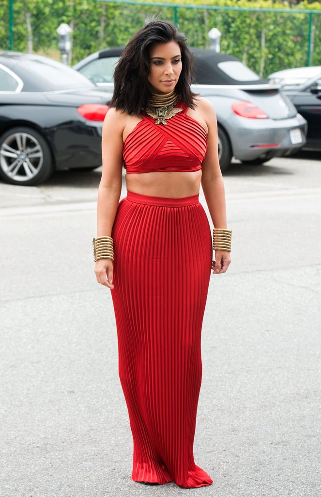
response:
[[[204,317],[201,489],[130,479],[111,296],[93,273],[99,178],[0,183],[0,497],[320,497],[319,158],[224,176],[233,252]]]

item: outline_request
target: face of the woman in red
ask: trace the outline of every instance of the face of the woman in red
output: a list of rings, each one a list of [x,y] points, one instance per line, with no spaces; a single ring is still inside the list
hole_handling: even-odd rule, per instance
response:
[[[174,90],[182,72],[181,49],[176,41],[157,43],[149,53],[150,73],[148,81],[154,93],[170,93]]]

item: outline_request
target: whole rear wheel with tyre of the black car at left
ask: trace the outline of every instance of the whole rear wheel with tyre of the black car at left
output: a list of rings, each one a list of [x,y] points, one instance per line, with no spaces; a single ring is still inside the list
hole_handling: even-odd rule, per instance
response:
[[[49,178],[53,158],[45,139],[32,128],[12,128],[0,137],[0,176],[7,183],[32,186]]]

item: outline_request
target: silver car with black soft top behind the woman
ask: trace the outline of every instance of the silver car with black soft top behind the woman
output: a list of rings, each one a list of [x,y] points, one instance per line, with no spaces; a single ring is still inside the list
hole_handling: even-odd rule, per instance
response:
[[[100,50],[74,69],[97,86],[111,90],[114,68],[123,50]],[[306,120],[279,86],[262,80],[232,55],[197,48],[192,51],[196,82],[192,88],[215,108],[222,171],[232,157],[258,165],[293,154],[305,144]]]

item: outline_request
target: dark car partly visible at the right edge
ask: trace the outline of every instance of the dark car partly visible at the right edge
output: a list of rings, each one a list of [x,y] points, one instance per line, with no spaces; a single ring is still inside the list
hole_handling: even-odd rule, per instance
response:
[[[307,142],[303,150],[321,151],[321,73],[300,86],[282,91],[308,122]]]

